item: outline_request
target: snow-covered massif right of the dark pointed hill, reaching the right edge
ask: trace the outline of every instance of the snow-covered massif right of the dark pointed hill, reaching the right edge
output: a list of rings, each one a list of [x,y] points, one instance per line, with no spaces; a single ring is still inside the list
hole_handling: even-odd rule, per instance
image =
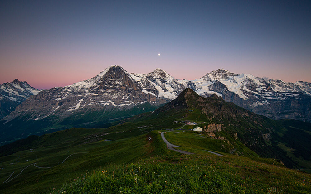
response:
[[[311,83],[308,82],[266,81],[224,69],[190,82],[190,88],[203,97],[216,93],[227,102],[272,119],[311,121]]]

